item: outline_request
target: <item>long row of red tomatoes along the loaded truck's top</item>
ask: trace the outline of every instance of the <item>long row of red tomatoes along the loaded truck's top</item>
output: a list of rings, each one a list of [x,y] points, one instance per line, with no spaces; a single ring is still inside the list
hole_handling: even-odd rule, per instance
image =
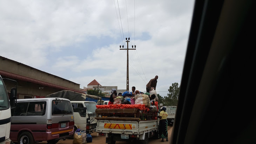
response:
[[[96,105],[97,109],[140,109],[146,110],[145,104],[110,104]]]

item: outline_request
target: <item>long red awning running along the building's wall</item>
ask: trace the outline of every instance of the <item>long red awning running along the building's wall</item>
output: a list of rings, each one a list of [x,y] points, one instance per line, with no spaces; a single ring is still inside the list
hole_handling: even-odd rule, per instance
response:
[[[9,72],[3,71],[3,70],[0,70],[0,75],[10,77],[10,78],[14,78],[14,79],[18,79],[18,80],[22,80],[22,81],[27,81],[27,82],[32,82],[32,83],[36,83],[36,84],[45,85],[47,87],[52,87],[52,88],[57,88],[57,89],[62,89],[62,90],[72,90],[72,91],[75,91],[75,92],[83,93],[79,90],[70,89],[70,88],[67,88],[67,87],[62,87],[60,85],[39,81],[39,80],[36,80],[34,78],[29,78],[29,77],[26,77],[26,76],[21,76],[21,75],[9,73]]]

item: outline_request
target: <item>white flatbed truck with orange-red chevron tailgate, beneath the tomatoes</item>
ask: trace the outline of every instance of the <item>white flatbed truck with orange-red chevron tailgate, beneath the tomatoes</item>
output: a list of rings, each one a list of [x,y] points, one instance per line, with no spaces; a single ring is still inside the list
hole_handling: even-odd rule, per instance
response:
[[[141,120],[139,109],[96,109],[97,128],[100,136],[106,135],[106,143],[116,141],[148,144],[150,137],[158,138],[159,120],[157,112],[144,115]],[[132,116],[132,117],[131,117]],[[146,120],[147,119],[147,120]],[[151,119],[151,120],[150,120]]]

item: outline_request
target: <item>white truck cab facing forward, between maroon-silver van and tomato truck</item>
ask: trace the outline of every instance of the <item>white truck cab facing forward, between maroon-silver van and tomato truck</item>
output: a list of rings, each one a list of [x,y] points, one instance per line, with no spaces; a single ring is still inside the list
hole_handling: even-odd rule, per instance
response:
[[[71,101],[71,103],[74,111],[75,130],[86,130],[86,133],[95,132],[97,103],[93,101]]]

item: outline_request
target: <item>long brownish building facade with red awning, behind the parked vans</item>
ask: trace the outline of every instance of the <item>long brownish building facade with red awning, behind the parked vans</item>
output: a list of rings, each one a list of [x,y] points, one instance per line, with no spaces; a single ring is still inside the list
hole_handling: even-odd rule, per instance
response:
[[[17,87],[18,98],[38,98],[61,90],[80,91],[80,84],[0,56],[0,75],[8,91]]]

